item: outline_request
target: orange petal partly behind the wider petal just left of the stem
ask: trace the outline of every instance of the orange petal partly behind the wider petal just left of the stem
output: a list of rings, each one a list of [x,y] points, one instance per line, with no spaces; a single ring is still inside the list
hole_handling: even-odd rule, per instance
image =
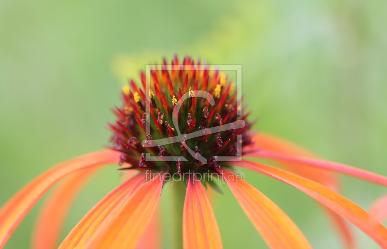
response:
[[[125,196],[132,193],[133,189],[144,180],[144,174],[140,172],[108,193],[77,223],[60,244],[59,249],[82,248]]]

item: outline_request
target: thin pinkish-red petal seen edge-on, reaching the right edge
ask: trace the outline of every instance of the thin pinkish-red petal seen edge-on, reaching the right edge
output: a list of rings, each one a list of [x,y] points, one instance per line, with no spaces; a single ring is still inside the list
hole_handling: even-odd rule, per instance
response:
[[[279,153],[271,153],[271,152],[265,152],[265,151],[255,152],[252,155],[255,155],[257,157],[262,157],[262,158],[281,159],[281,160],[286,160],[288,162],[300,163],[300,164],[316,167],[318,169],[325,169],[328,171],[339,172],[342,174],[346,174],[348,176],[357,177],[359,179],[363,179],[366,181],[387,186],[387,177],[385,176],[381,176],[379,174],[366,171],[364,169],[358,169],[356,167],[340,164],[337,162],[329,162],[325,160],[311,159],[307,157],[289,156],[289,155],[283,155]]]

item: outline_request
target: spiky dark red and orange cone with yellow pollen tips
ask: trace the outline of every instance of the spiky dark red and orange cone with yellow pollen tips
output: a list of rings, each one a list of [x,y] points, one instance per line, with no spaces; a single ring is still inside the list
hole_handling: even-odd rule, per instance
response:
[[[218,70],[197,70],[197,64],[190,57],[185,57],[182,65],[190,66],[185,70],[167,70],[164,66],[151,70],[151,89],[146,92],[145,75],[140,73],[142,86],[130,80],[129,87],[122,92],[123,106],[116,107],[113,112],[117,117],[115,124],[110,124],[113,131],[111,142],[113,148],[122,152],[120,165],[124,162],[131,164],[132,169],[154,169],[175,172],[215,172],[226,162],[218,161],[219,156],[240,156],[237,146],[237,135],[241,135],[242,147],[250,145],[249,129],[251,123],[246,121],[247,115],[236,115],[241,103],[237,103],[235,84],[228,80],[223,72]],[[177,56],[171,65],[179,67]],[[209,101],[195,96],[195,91],[208,91],[215,100],[211,106]],[[182,96],[188,92],[178,114],[178,126],[173,127],[172,113]],[[146,114],[146,96],[151,102],[148,104],[150,116]],[[237,120],[246,121],[243,128],[211,133],[211,127],[231,124]],[[151,124],[151,134],[146,134],[146,123]],[[161,139],[178,135],[176,128],[184,134],[176,143],[142,147],[140,141]],[[187,139],[187,134],[200,131],[200,136]],[[240,137],[240,136],[239,136]],[[194,156],[187,153],[187,146],[192,148]],[[159,161],[147,161],[146,153],[159,157]],[[184,157],[175,161],[163,160],[166,156]],[[207,159],[207,163],[200,162],[200,157]],[[127,168],[127,167],[126,167]]]

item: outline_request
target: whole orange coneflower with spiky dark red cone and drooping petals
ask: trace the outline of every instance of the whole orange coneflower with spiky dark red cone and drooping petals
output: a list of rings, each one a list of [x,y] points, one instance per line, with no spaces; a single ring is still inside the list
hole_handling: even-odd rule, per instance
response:
[[[233,173],[235,166],[285,182],[317,200],[336,224],[346,248],[355,248],[356,243],[345,220],[387,248],[387,229],[376,220],[377,215],[337,193],[339,180],[333,172],[384,186],[386,177],[321,160],[280,138],[254,133],[249,113],[238,115],[242,103],[224,72],[199,70],[200,63],[190,57],[180,65],[175,56],[171,66],[177,69],[170,70],[164,60],[152,68],[149,82],[142,72],[142,84],[131,80],[123,88],[123,105],[114,109],[117,120],[110,124],[109,149],[49,169],[3,205],[0,248],[43,194],[66,176],[43,205],[34,230],[33,248],[55,248],[71,200],[87,179],[108,164],[120,165],[120,170],[129,172],[129,179],[99,201],[60,248],[136,248],[141,238],[154,240],[146,230],[168,181],[179,181],[174,187],[183,193],[183,206],[175,213],[180,220],[175,232],[181,238],[176,236],[171,247],[223,248],[205,189],[221,191],[217,184],[224,181],[269,247],[311,248],[275,203]],[[255,159],[271,160],[284,169]],[[381,199],[375,204],[379,217],[385,202]]]

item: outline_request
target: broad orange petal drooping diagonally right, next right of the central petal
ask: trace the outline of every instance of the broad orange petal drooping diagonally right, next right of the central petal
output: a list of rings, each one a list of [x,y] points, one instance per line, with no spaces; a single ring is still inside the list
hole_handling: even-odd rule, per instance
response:
[[[297,225],[267,196],[223,169],[223,179],[270,248],[312,248]]]

